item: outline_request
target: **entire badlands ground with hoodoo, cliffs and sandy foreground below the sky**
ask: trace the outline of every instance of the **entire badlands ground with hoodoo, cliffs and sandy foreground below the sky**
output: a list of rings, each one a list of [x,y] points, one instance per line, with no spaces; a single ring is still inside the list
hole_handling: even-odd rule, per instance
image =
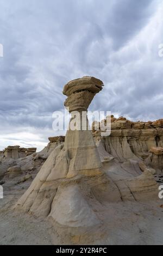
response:
[[[94,77],[70,81],[65,107],[82,115],[102,89]],[[163,243],[163,119],[111,115],[110,136],[100,129],[70,129],[40,152],[0,152],[1,245]]]

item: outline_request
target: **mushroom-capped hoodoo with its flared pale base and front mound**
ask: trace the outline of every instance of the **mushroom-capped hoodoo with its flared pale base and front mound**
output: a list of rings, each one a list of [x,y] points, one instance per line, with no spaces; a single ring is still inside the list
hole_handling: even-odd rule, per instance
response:
[[[64,93],[68,95],[65,105],[70,107],[70,112],[87,110],[93,96],[102,89],[102,85],[102,82],[96,78],[74,80],[64,88]],[[53,143],[54,140],[50,140]],[[68,227],[96,225],[99,223],[98,218],[78,185],[74,186],[73,183],[74,180],[77,179],[79,182],[85,177],[84,184],[87,184],[92,177],[101,175],[104,175],[102,162],[92,132],[70,129],[66,133],[65,143],[52,151],[31,186],[18,201],[16,208],[35,215],[48,216],[54,222]],[[96,184],[97,179],[92,182]],[[89,188],[89,185],[87,186]],[[87,193],[89,193],[88,188],[85,190]],[[63,194],[64,198],[62,198]],[[69,203],[64,203],[61,198]],[[64,218],[61,217],[62,215]]]

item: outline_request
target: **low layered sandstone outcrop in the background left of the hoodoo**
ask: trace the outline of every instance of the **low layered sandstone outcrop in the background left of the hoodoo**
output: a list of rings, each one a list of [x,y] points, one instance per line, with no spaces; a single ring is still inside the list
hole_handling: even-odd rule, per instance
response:
[[[51,152],[58,147],[58,145],[64,143],[65,136],[58,136],[58,137],[51,137],[49,138],[49,143],[47,147],[42,149],[40,152],[36,153],[36,148],[20,148],[20,146],[9,146],[7,148],[7,151],[9,149],[10,154],[6,154],[4,156],[4,151],[2,151],[2,157],[0,159],[0,180],[5,180],[5,182],[8,182],[9,175],[8,175],[8,169],[20,166],[22,170],[22,177],[23,175],[31,175],[32,178],[35,178],[36,174],[39,172],[40,168],[42,167],[42,164],[47,160],[47,157]],[[18,153],[16,154],[18,156],[13,158],[12,153],[15,151]],[[22,155],[23,153],[23,155]],[[20,157],[22,156],[22,157]],[[16,178],[16,173],[15,173]],[[20,180],[20,174],[17,173],[17,179]],[[11,179],[10,179],[11,180]]]

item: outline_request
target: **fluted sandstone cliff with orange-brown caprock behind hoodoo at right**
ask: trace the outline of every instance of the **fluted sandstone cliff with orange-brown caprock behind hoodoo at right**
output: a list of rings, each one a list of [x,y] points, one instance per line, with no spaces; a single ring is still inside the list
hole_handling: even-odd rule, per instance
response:
[[[100,127],[100,124],[98,125]],[[95,124],[92,130],[93,136],[96,137],[99,131],[94,127]],[[128,159],[146,160],[151,156],[152,148],[163,147],[163,119],[153,122],[133,122],[124,117],[116,119],[111,115],[111,135],[103,137],[103,145],[106,151],[120,162]],[[154,152],[153,154],[155,155]],[[151,166],[154,167],[152,161]],[[157,168],[156,165],[155,168]]]

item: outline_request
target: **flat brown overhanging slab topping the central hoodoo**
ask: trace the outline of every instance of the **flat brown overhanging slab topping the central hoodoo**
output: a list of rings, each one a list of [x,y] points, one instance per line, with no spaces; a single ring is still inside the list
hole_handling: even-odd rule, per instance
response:
[[[63,94],[70,96],[73,93],[87,90],[92,93],[99,93],[103,88],[104,84],[101,80],[93,76],[84,76],[68,82],[65,87]]]

